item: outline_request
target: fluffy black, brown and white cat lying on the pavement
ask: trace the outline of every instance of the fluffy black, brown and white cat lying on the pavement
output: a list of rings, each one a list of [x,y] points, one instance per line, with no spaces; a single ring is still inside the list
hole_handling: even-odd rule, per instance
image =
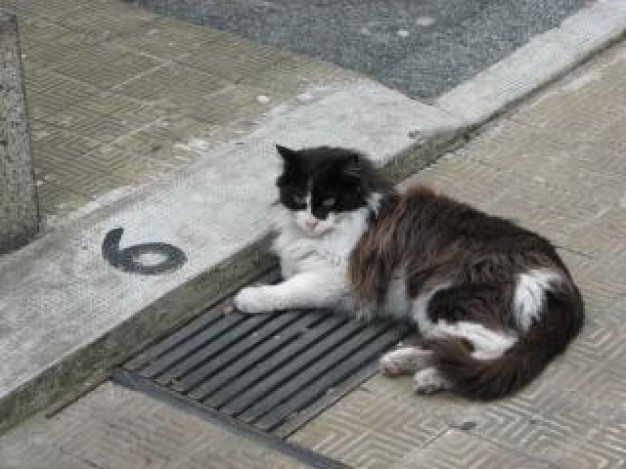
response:
[[[419,343],[383,355],[381,372],[476,400],[527,385],[582,328],[580,292],[538,234],[423,186],[398,192],[355,150],[277,150],[272,249],[285,280],[241,290],[240,311],[413,321]]]

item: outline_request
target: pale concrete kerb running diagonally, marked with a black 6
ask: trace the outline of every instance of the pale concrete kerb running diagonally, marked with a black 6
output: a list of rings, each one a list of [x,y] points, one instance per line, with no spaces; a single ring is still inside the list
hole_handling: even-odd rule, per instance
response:
[[[237,141],[208,152],[200,145],[199,162],[169,182],[1,258],[0,432],[106,376],[271,264],[262,240],[278,169],[274,143],[356,147],[390,163],[399,180],[625,31],[626,4],[598,2],[433,106],[367,80],[311,90]],[[189,262],[155,277],[114,269],[100,250],[118,226],[127,230],[123,245],[168,242]]]

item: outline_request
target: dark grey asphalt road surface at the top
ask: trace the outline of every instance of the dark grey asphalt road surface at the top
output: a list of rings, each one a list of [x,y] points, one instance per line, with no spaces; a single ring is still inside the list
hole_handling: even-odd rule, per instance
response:
[[[557,26],[586,0],[133,1],[427,100]]]

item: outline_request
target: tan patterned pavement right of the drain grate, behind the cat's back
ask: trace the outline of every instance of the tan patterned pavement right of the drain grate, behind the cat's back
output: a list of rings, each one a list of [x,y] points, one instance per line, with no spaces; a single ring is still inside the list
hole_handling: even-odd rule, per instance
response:
[[[292,440],[358,468],[625,467],[625,128],[622,42],[405,183],[553,240],[587,311],[563,356],[488,404],[377,376]]]

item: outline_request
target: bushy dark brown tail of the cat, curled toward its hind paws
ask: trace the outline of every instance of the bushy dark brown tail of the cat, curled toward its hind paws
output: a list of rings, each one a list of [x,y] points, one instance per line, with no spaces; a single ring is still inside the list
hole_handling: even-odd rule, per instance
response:
[[[576,287],[546,291],[539,320],[520,334],[500,356],[473,350],[464,337],[431,339],[434,365],[451,390],[476,400],[509,395],[537,377],[552,358],[565,350],[583,325],[583,303]]]

